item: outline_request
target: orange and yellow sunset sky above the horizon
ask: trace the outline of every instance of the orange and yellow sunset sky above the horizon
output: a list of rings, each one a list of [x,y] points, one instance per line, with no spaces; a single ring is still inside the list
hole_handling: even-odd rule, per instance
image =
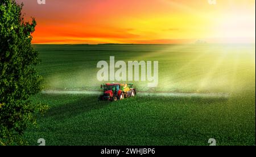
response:
[[[36,44],[255,43],[255,0],[37,0]]]

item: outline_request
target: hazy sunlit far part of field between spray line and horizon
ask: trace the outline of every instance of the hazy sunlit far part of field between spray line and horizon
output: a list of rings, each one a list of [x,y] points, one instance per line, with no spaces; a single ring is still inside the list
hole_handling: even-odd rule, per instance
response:
[[[230,92],[255,86],[255,46],[251,45],[36,45],[47,89],[100,89],[98,61],[158,60],[156,91]],[[241,81],[242,80],[242,81]],[[107,81],[108,82],[108,81]],[[242,83],[242,84],[241,84]],[[147,82],[134,81],[139,90]]]

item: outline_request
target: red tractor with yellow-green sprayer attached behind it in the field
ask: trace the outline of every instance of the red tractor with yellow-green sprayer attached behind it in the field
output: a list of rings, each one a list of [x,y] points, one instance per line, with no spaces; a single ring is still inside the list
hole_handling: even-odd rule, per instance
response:
[[[133,88],[133,84],[104,84],[101,85],[104,90],[104,95],[100,97],[101,100],[117,101],[124,98],[134,97],[136,89]]]

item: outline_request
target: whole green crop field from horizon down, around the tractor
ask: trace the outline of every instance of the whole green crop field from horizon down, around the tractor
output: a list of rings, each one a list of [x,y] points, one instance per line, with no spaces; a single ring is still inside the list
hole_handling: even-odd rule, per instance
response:
[[[255,145],[255,45],[36,45],[44,90],[32,100],[50,106],[38,127],[25,134],[31,145]],[[159,61],[159,83],[135,81],[139,92],[183,93],[102,102],[97,62]],[[228,97],[190,96],[221,93]],[[187,96],[185,96],[187,94]]]

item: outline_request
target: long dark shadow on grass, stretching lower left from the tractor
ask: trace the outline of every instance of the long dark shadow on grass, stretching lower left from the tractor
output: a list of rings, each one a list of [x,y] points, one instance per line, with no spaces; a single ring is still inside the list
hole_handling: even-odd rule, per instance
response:
[[[104,108],[104,106],[109,105],[110,103],[110,101],[98,101],[98,97],[96,96],[84,97],[78,101],[73,101],[60,106],[54,106],[47,111],[44,117],[63,120],[75,117],[76,115],[88,112],[90,110]]]

